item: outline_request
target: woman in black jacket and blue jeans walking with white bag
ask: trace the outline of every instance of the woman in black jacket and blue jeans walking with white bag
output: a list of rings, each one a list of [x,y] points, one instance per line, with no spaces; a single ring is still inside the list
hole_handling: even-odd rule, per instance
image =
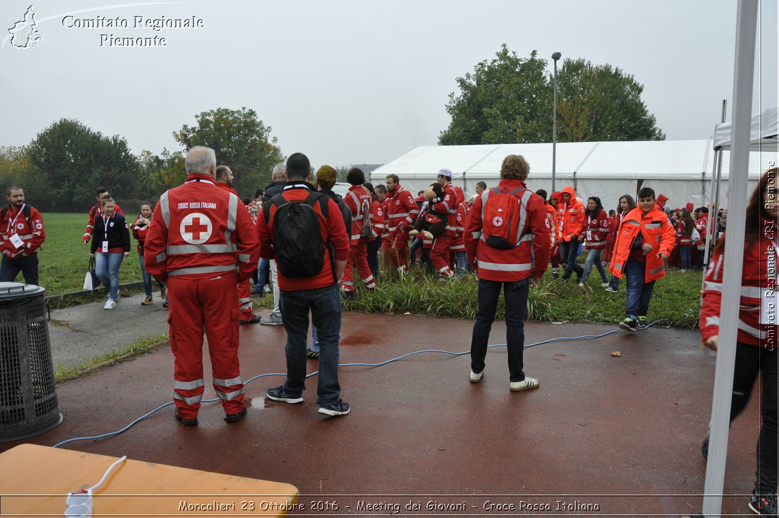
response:
[[[103,307],[112,310],[119,299],[119,266],[130,254],[130,232],[125,217],[115,211],[114,199],[100,200],[103,213],[95,218],[91,257],[95,258],[97,279],[108,286],[108,300]]]

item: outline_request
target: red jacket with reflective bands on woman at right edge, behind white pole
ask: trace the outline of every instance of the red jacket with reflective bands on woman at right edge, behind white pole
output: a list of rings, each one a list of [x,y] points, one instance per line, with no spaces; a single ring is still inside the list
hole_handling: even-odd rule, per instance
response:
[[[762,219],[763,235],[744,247],[741,272],[741,309],[738,311],[738,342],[774,349],[777,346],[777,307],[761,305],[761,298],[777,289],[776,222]],[[727,234],[727,232],[726,232]],[[773,243],[772,243],[773,240]],[[771,264],[773,263],[773,264]],[[773,271],[773,275],[771,272]],[[722,279],[732,275],[724,264],[723,250],[714,250],[709,271],[703,282],[703,305],[700,308],[700,335],[703,341],[720,334]],[[773,309],[773,311],[770,311]],[[761,322],[761,320],[763,320]]]

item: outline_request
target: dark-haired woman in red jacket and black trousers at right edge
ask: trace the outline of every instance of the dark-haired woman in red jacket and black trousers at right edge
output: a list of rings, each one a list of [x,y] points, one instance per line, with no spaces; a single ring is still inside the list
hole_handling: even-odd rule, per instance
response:
[[[760,435],[757,439],[755,488],[749,508],[760,515],[777,515],[777,414],[779,414],[779,353],[777,353],[777,168],[769,169],[746,208],[744,266],[735,345],[731,422],[749,402],[757,374],[763,384],[760,395]],[[722,279],[733,275],[724,261],[727,232],[714,247],[700,310],[703,345],[717,350],[720,334]],[[709,435],[701,446],[708,456]]]

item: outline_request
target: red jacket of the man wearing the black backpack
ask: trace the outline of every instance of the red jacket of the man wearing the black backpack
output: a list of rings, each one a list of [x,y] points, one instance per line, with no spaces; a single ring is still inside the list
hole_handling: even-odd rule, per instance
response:
[[[365,192],[365,190],[363,190]],[[301,181],[287,182],[281,191],[284,200],[305,200],[311,193],[310,184]],[[349,197],[347,195],[347,197]],[[319,215],[319,229],[322,231],[322,242],[333,244],[336,261],[346,261],[349,258],[349,235],[344,225],[344,216],[340,208],[333,200],[327,199],[327,218],[322,215],[319,202],[314,204],[314,211]],[[270,206],[270,219],[266,221],[265,211],[257,216],[257,235],[259,236],[259,257],[263,259],[275,259],[273,250],[273,216],[276,214],[276,204]],[[337,282],[333,263],[330,257],[330,247],[325,247],[325,264],[319,275],[313,277],[287,278],[278,271],[279,289],[284,292],[301,291],[302,289],[319,289],[332,286]]]

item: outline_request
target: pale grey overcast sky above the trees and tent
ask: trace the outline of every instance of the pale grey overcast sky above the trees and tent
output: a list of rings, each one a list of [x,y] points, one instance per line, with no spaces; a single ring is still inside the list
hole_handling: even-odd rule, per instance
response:
[[[199,112],[245,106],[285,155],[385,163],[437,143],[456,77],[503,43],[537,50],[550,69],[559,51],[633,74],[669,140],[710,137],[723,99],[730,119],[736,0],[36,2],[44,40],[13,48],[8,28],[29,5],[0,12],[0,145],[29,144],[66,117],[158,154],[181,149],[171,132]],[[65,27],[97,16],[128,27]],[[203,27],[136,29],[135,16]],[[763,0],[753,112],[777,105],[777,22],[777,2]],[[166,45],[108,46],[100,34]]]

